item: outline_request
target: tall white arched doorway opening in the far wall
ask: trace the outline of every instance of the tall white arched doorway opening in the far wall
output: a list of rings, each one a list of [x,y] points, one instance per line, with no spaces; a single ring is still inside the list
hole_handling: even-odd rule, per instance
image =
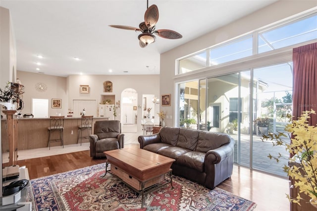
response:
[[[121,93],[121,125],[122,132],[137,132],[138,93],[135,89],[127,88]]]

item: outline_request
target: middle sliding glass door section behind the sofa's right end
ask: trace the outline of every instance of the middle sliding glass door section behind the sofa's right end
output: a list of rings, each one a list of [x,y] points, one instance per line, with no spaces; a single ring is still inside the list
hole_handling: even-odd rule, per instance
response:
[[[210,131],[236,142],[234,162],[250,165],[250,71],[208,78],[207,121]]]

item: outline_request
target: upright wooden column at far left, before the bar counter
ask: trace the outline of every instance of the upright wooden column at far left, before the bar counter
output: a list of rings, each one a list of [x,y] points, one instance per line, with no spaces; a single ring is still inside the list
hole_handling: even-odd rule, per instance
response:
[[[16,110],[3,110],[6,115],[6,125],[8,131],[8,142],[9,142],[9,163],[8,166],[17,164],[17,121],[13,118]]]

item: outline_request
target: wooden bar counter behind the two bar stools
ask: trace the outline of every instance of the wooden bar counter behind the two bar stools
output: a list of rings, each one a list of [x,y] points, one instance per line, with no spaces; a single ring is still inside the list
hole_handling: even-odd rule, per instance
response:
[[[108,120],[107,117],[94,117],[92,134],[94,134],[94,125],[96,121]],[[78,125],[81,123],[81,117],[65,117],[63,139],[64,145],[77,144]],[[48,147],[50,118],[17,118],[18,141],[17,150],[30,150]],[[6,119],[1,119],[1,139],[2,153],[8,152],[8,133]],[[86,134],[87,131],[83,132]],[[56,135],[56,134],[54,134]],[[83,143],[89,142],[89,139],[83,139]],[[60,145],[60,142],[51,143],[51,147]]]

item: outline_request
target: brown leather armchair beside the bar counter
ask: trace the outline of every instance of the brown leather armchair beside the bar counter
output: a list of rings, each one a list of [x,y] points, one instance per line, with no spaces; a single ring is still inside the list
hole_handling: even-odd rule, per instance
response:
[[[105,151],[124,147],[124,134],[119,120],[96,121],[94,134],[90,135],[90,157],[106,157]]]

